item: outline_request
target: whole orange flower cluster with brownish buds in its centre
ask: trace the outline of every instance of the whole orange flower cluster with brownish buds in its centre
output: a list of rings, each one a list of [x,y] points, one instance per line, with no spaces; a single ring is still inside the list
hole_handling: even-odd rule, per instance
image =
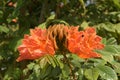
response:
[[[89,27],[84,31],[78,31],[78,27],[65,26],[63,24],[50,26],[48,29],[35,28],[30,30],[30,35],[25,35],[22,45],[18,47],[20,56],[17,61],[25,59],[37,59],[46,54],[54,55],[59,49],[57,38],[72,53],[81,58],[101,57],[94,52],[95,49],[103,49],[101,37],[96,35],[95,28]]]

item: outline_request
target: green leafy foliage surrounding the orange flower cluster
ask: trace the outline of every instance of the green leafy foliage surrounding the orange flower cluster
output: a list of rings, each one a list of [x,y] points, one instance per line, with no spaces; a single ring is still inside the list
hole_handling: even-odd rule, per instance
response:
[[[13,2],[13,6],[9,3]],[[17,22],[12,20],[16,19]],[[94,26],[103,37],[101,59],[87,61],[67,54],[16,62],[24,34],[51,24]],[[59,53],[59,52],[58,52]],[[120,0],[0,0],[0,80],[119,80]]]

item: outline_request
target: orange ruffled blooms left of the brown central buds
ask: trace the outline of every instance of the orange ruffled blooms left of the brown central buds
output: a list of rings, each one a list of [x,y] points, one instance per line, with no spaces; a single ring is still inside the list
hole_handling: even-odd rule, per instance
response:
[[[54,55],[54,44],[48,38],[46,30],[39,28],[31,29],[31,35],[25,35],[22,41],[22,45],[18,47],[20,56],[17,61],[22,61],[25,59],[37,59],[45,54]]]

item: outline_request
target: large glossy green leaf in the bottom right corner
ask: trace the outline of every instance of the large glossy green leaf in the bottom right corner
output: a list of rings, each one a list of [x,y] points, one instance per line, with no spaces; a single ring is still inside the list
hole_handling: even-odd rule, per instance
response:
[[[108,66],[98,66],[99,74],[103,79],[106,80],[118,80],[117,74],[115,71]]]

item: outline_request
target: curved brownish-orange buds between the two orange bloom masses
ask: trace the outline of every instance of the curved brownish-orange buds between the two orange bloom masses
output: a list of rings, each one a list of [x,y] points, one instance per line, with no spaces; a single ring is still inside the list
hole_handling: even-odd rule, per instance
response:
[[[66,45],[68,27],[64,24],[56,24],[49,26],[47,29],[47,34],[49,38],[53,41],[55,49],[62,49]]]

